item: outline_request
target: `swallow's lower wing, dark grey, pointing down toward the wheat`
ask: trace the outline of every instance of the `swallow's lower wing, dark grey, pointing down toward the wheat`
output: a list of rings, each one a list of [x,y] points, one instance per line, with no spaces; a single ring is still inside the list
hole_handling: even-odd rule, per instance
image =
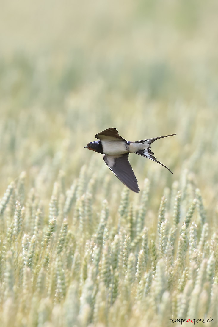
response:
[[[106,165],[114,173],[115,176],[130,190],[138,193],[139,188],[134,175],[133,169],[128,160],[128,153],[122,155],[104,154],[103,159]]]

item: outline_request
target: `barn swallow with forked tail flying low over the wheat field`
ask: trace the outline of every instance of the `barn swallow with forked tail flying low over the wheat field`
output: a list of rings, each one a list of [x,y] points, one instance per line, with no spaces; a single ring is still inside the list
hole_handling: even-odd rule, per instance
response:
[[[116,128],[108,128],[95,135],[100,141],[90,142],[84,147],[98,153],[103,153],[104,162],[114,175],[130,190],[138,193],[139,188],[136,176],[128,160],[129,154],[131,152],[139,154],[167,168],[153,156],[154,153],[151,151],[151,144],[158,139],[173,135],[176,134],[140,141],[126,141],[123,137],[119,136]],[[172,173],[169,168],[167,169]]]

